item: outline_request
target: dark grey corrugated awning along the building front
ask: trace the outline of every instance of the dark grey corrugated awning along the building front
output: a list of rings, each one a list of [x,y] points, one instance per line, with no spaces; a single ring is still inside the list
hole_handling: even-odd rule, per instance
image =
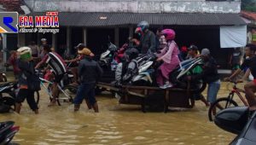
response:
[[[45,15],[33,12],[29,15]],[[241,26],[239,14],[221,13],[83,13],[59,12],[60,26],[127,26],[147,20],[150,25],[172,26]]]

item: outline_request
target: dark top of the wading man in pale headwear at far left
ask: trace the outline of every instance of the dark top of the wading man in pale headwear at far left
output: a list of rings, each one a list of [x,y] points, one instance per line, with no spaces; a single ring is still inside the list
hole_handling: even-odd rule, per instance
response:
[[[30,76],[35,73],[33,61],[21,61],[18,59],[18,67],[20,68],[19,73],[19,84],[27,85],[30,81]]]

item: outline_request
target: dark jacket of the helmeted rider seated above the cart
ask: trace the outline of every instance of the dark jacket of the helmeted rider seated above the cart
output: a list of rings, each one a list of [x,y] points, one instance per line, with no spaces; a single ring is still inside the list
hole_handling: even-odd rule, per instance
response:
[[[154,53],[156,51],[156,38],[154,35],[154,32],[151,32],[148,30],[148,32],[144,33],[142,38],[140,39],[140,46],[139,48],[141,49],[142,54],[148,54],[149,53]]]

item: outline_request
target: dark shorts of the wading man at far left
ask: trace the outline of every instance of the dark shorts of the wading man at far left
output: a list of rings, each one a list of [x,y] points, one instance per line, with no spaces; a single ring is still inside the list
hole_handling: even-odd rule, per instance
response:
[[[35,101],[33,90],[27,90],[27,89],[20,89],[19,90],[19,93],[15,98],[15,102],[21,103],[21,102],[24,102],[25,99],[26,99],[26,102],[28,103],[29,107],[33,111],[38,109],[38,104]]]

